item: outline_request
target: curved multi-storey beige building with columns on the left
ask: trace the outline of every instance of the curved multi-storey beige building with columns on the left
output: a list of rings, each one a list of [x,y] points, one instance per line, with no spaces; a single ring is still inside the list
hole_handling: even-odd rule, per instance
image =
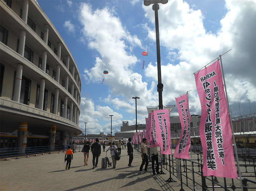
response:
[[[0,147],[69,143],[79,124],[81,78],[36,0],[0,0]]]

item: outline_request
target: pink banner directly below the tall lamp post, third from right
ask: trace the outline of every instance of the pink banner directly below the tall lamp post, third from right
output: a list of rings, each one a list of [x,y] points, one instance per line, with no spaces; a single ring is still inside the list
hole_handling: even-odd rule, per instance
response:
[[[171,133],[169,110],[155,110],[155,129],[157,141],[161,147],[161,154],[171,155]]]

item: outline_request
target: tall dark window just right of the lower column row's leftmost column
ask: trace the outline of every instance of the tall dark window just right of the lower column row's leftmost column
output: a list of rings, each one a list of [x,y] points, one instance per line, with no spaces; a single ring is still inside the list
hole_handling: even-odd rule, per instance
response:
[[[31,80],[22,76],[20,89],[20,103],[29,105]]]

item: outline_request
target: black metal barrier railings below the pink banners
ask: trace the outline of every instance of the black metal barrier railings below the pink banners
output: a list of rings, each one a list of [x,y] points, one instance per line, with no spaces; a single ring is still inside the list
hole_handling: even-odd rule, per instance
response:
[[[176,146],[176,145],[175,145]],[[194,145],[195,146],[195,145]],[[140,145],[134,144],[133,147],[137,152],[141,152]],[[200,150],[200,149],[199,149]],[[201,150],[200,150],[201,151]],[[147,147],[149,162],[151,162],[151,151]],[[183,186],[191,190],[240,190],[240,180],[231,178],[220,178],[215,176],[203,176],[203,154],[192,153],[191,159],[179,159],[172,155],[164,155],[158,151],[159,165],[161,165],[160,174],[165,174],[163,171],[169,172],[169,178],[165,182],[181,182]],[[239,150],[239,165],[242,176],[244,191],[248,189],[256,189],[256,156],[255,149],[240,149]],[[192,161],[192,162],[191,162]],[[235,161],[236,163],[236,161]],[[237,163],[236,163],[237,168]],[[160,170],[160,169],[159,169]],[[174,180],[175,179],[175,180]],[[193,187],[194,185],[194,187]],[[187,189],[186,189],[187,190]]]

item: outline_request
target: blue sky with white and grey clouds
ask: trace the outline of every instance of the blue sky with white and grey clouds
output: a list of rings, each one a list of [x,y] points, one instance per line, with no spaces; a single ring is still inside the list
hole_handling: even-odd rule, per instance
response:
[[[80,129],[84,132],[87,122],[86,134],[110,133],[109,115],[114,115],[113,134],[120,131],[122,121],[135,124],[136,96],[137,123],[145,124],[146,107],[158,106],[152,5],[145,6],[142,0],[37,2],[80,72]],[[169,0],[159,7],[163,105],[176,105],[175,97],[191,90],[190,114],[201,114],[193,73],[231,49],[222,63],[232,117],[255,113],[256,2]],[[170,115],[178,115],[176,107]]]

